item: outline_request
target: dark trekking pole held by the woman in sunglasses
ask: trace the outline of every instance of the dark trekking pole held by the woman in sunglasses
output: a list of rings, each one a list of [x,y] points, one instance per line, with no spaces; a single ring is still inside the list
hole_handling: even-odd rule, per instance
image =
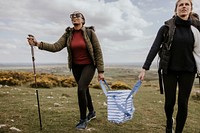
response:
[[[29,37],[34,37],[33,35],[28,35]],[[36,78],[36,69],[35,69],[35,57],[34,57],[34,49],[31,46],[31,55],[32,55],[32,62],[33,62],[33,73],[34,73],[34,80],[35,80],[35,88],[36,88],[36,95],[37,95],[37,104],[38,104],[38,115],[39,115],[39,122],[40,122],[40,130],[42,130],[42,120],[41,120],[41,113],[40,113],[40,101],[39,101],[39,93],[37,90],[37,78]]]

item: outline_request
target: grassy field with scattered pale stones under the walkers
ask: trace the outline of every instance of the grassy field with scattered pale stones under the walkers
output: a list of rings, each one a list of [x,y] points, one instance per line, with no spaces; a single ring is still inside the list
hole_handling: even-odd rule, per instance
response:
[[[132,87],[139,74],[134,67],[106,67],[105,78],[109,84],[124,82]],[[7,71],[5,69],[1,71]],[[9,71],[32,72],[31,68],[9,68]],[[38,67],[37,73],[68,76],[66,66]],[[189,113],[184,133],[200,133],[200,90],[195,80],[189,101]],[[98,84],[95,75],[93,84]],[[0,86],[0,133],[162,133],[165,132],[164,95],[159,93],[156,70],[146,73],[146,79],[136,95],[133,119],[123,124],[107,120],[106,97],[101,89],[90,88],[97,118],[88,123],[86,130],[78,131],[79,121],[76,87],[37,88],[40,98],[42,130],[40,130],[36,89],[28,85]],[[175,107],[174,117],[177,111]],[[16,129],[15,129],[16,128]]]

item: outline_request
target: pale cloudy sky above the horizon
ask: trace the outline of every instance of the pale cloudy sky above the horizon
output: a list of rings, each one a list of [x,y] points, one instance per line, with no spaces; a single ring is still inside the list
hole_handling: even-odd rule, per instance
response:
[[[0,63],[31,63],[27,35],[56,42],[83,13],[85,26],[95,26],[105,63],[144,62],[164,21],[174,15],[176,0],[1,0]],[[193,0],[200,14],[200,0]],[[67,63],[67,49],[51,53],[34,48],[37,63]],[[156,59],[154,59],[154,62]]]

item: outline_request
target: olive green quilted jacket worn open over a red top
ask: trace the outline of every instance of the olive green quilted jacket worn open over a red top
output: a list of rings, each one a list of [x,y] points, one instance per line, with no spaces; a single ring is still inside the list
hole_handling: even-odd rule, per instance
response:
[[[98,72],[104,72],[104,62],[103,62],[103,54],[101,51],[100,43],[98,41],[98,38],[95,34],[95,32],[92,29],[86,29],[86,27],[81,28],[83,37],[85,39],[86,45],[88,52],[91,56],[91,59],[96,66]],[[87,31],[86,30],[91,30],[91,38],[89,38]],[[46,50],[50,52],[58,52],[62,50],[63,48],[67,47],[68,50],[68,67],[71,70],[72,68],[72,52],[70,48],[71,44],[71,39],[72,39],[72,33],[73,33],[73,28],[70,28],[70,30],[66,30],[66,32],[60,37],[60,39],[53,43],[46,43],[46,42],[41,42],[40,45],[38,46],[39,49],[41,50]]]

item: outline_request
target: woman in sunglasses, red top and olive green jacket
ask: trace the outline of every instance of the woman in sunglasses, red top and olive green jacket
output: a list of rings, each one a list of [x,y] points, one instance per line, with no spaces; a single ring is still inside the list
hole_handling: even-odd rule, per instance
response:
[[[70,15],[70,19],[74,27],[67,28],[66,32],[54,44],[38,42],[32,35],[29,35],[27,39],[30,45],[50,52],[57,52],[67,47],[68,65],[78,84],[80,121],[76,128],[85,129],[87,122],[96,118],[88,86],[93,79],[96,68],[98,80],[104,80],[103,55],[95,32],[84,27],[85,17],[83,14],[75,11]],[[86,116],[87,108],[89,113]]]

